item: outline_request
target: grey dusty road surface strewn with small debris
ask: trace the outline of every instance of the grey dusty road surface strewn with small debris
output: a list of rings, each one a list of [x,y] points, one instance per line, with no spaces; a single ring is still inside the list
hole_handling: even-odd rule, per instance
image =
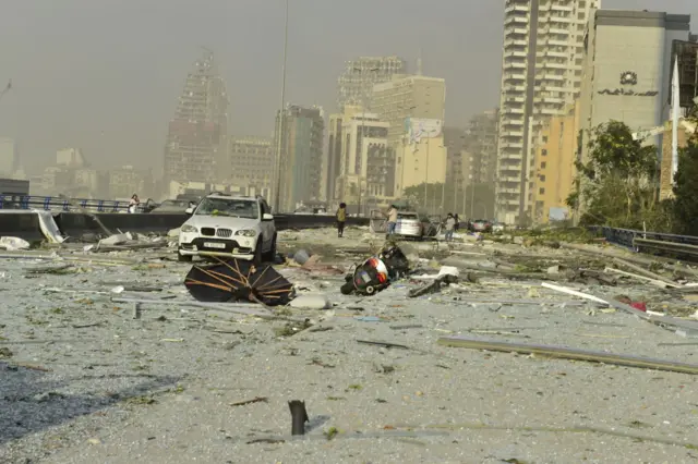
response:
[[[288,232],[280,249],[322,252],[326,262],[349,265],[354,253],[381,243],[366,231],[348,235],[338,241],[332,231]],[[495,251],[522,249],[416,247],[430,258],[456,252],[452,259],[465,267]],[[583,259],[568,251],[525,252],[549,265]],[[148,304],[134,319],[130,305],[110,300],[186,300],[185,265],[83,262],[77,272],[31,273],[49,265],[59,264],[4,259],[0,271],[2,463],[698,459],[695,376],[436,344],[440,337],[465,334],[698,364],[695,339],[543,289],[540,280],[491,273],[478,284],[419,298],[407,292],[421,282],[406,280],[359,297],[339,294],[342,276],[279,266],[302,292],[328,295],[334,308],[290,312],[316,323],[278,337],[284,322]],[[425,272],[437,269],[423,266]],[[654,310],[686,313],[695,305],[637,281],[561,284],[626,294]],[[127,290],[116,295],[110,290],[118,285]],[[136,293],[132,285],[163,290]],[[258,398],[266,400],[233,405]],[[300,439],[290,437],[290,400],[305,401],[309,412],[310,431]]]

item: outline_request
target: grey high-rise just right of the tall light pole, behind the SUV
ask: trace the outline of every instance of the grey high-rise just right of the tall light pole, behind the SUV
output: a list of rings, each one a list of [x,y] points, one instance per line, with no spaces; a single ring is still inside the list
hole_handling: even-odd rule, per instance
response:
[[[279,134],[280,115],[284,117]],[[303,202],[321,198],[325,113],[320,107],[287,106],[276,117],[275,146],[281,137],[280,163],[274,185],[276,211],[294,211]],[[277,204],[278,198],[278,204]]]

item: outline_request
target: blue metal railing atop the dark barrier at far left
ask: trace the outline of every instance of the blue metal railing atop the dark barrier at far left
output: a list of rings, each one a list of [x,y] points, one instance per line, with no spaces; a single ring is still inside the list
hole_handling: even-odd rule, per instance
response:
[[[35,195],[0,195],[0,209],[43,209],[45,211],[72,211],[80,206],[94,212],[121,212],[129,209],[129,202],[110,199],[60,198]]]

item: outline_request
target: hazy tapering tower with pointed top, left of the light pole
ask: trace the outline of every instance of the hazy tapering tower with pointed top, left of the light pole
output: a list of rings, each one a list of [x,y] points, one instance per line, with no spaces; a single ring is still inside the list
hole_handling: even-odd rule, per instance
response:
[[[165,184],[214,182],[229,176],[228,94],[214,56],[196,61],[184,83],[165,148]]]

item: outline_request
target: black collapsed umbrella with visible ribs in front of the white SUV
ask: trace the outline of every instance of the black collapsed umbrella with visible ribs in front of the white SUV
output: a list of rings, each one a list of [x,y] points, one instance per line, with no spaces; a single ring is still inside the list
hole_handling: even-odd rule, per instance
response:
[[[194,266],[184,280],[189,293],[200,302],[249,301],[267,306],[286,305],[293,285],[272,266],[216,258],[217,264]]]

